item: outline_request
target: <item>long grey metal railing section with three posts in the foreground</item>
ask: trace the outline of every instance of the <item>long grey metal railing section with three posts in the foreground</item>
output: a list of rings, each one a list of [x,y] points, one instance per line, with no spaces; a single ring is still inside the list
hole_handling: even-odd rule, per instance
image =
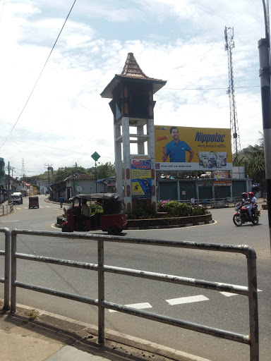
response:
[[[76,262],[68,259],[56,259],[52,257],[43,257],[38,255],[26,255],[16,252],[17,235],[35,235],[42,237],[56,237],[56,238],[71,238],[71,239],[88,239],[97,241],[98,245],[98,257],[97,264]],[[182,276],[174,276],[170,274],[159,274],[149,271],[141,271],[138,269],[126,269],[121,267],[107,266],[104,264],[104,243],[135,243],[138,245],[149,246],[162,246],[162,247],[176,247],[187,248],[191,250],[212,250],[216,252],[234,252],[246,255],[247,269],[248,269],[248,286],[238,286],[229,283],[219,283],[213,281],[204,281],[200,279],[189,279]],[[17,271],[16,263],[17,259],[25,259],[28,261],[46,262],[50,264],[58,264],[59,266],[76,267],[80,269],[88,269],[98,272],[98,299],[87,298],[82,295],[76,295],[73,293],[62,292],[54,290],[52,288],[45,288],[35,286],[28,283],[16,281]],[[249,335],[236,334],[231,331],[225,331],[222,329],[215,329],[210,326],[202,324],[195,324],[193,322],[186,322],[182,319],[176,319],[173,317],[167,317],[162,314],[155,314],[152,312],[146,312],[143,310],[135,310],[132,307],[119,305],[114,302],[108,302],[104,300],[104,273],[109,272],[113,274],[121,274],[126,276],[140,277],[143,279],[152,279],[156,281],[176,283],[186,286],[193,286],[198,288],[207,288],[210,290],[224,291],[237,293],[239,295],[246,295],[248,297],[249,305]],[[85,235],[83,233],[59,233],[59,232],[47,232],[47,231],[28,231],[23,229],[16,229],[11,232],[11,312],[16,311],[16,289],[25,288],[28,290],[35,290],[41,293],[47,293],[49,295],[58,296],[61,298],[68,298],[76,300],[78,302],[84,302],[89,305],[95,305],[98,307],[98,342],[104,344],[104,309],[115,310],[126,314],[131,314],[137,317],[144,317],[145,319],[151,319],[156,322],[162,322],[164,324],[171,324],[173,326],[181,327],[183,329],[189,329],[192,331],[200,332],[216,336],[219,338],[225,338],[227,340],[244,343],[250,345],[250,361],[259,360],[259,339],[258,339],[258,294],[257,294],[257,274],[256,274],[256,255],[253,248],[247,245],[220,245],[214,243],[195,243],[188,241],[171,241],[171,240],[154,240],[143,238],[123,238],[114,237],[111,235]]]

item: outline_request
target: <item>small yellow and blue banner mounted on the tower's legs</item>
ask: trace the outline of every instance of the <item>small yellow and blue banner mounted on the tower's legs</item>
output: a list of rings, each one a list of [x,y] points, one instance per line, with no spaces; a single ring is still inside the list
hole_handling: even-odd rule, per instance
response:
[[[152,197],[150,155],[131,155],[132,198]]]

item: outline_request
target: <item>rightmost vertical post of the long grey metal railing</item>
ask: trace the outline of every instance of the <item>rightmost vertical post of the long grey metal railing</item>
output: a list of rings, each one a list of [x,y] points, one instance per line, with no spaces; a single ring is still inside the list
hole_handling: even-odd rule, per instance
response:
[[[258,290],[256,273],[256,255],[255,251],[246,256],[248,265],[248,307],[249,307],[249,326],[250,326],[250,361],[259,361],[259,324],[258,324]]]

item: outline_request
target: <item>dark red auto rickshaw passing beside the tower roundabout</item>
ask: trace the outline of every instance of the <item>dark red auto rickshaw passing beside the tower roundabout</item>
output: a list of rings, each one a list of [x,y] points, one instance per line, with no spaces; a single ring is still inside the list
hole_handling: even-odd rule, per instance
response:
[[[79,194],[70,198],[70,202],[66,211],[66,221],[62,223],[62,232],[102,230],[117,235],[127,225],[122,195]]]

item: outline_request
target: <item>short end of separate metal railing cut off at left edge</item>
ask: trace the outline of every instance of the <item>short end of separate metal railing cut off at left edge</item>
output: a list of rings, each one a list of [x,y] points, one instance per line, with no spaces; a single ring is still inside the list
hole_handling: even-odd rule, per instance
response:
[[[9,287],[11,274],[11,231],[8,228],[0,228],[0,232],[5,234],[5,250],[0,250],[0,256],[5,257],[4,277],[0,277],[0,283],[4,283],[4,307],[7,311],[9,307]]]

